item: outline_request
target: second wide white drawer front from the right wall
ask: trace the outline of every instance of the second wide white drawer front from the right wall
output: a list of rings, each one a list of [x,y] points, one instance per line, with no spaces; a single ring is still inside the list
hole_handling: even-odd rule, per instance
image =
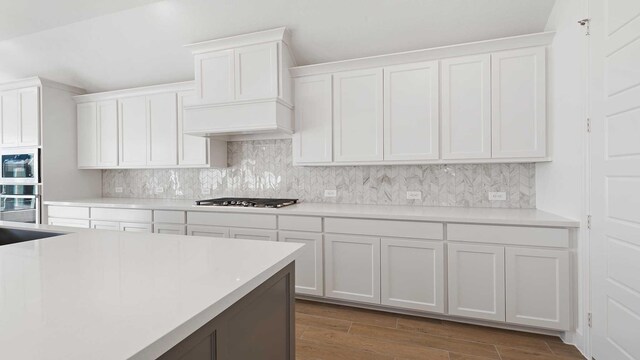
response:
[[[328,233],[443,239],[443,224],[415,221],[361,220],[326,218],[324,231]]]

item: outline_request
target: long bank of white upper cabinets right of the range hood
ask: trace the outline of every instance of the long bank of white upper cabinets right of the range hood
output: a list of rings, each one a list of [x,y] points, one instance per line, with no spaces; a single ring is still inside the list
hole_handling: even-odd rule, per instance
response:
[[[549,161],[545,46],[552,38],[294,67],[294,164]]]

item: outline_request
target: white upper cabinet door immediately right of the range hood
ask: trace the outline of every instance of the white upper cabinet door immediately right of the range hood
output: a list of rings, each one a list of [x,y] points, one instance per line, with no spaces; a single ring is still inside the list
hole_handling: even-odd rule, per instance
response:
[[[331,75],[297,78],[295,89],[293,161],[300,164],[330,163],[333,143]]]

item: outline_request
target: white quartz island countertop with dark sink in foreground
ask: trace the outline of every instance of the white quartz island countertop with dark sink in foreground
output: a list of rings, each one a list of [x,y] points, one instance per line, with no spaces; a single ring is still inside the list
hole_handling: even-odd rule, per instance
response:
[[[155,359],[301,244],[70,230],[0,246],[0,359]]]

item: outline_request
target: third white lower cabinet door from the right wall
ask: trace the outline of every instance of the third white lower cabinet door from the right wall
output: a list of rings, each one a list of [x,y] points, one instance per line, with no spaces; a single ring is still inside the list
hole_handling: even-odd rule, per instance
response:
[[[382,304],[444,312],[443,243],[383,238]]]

